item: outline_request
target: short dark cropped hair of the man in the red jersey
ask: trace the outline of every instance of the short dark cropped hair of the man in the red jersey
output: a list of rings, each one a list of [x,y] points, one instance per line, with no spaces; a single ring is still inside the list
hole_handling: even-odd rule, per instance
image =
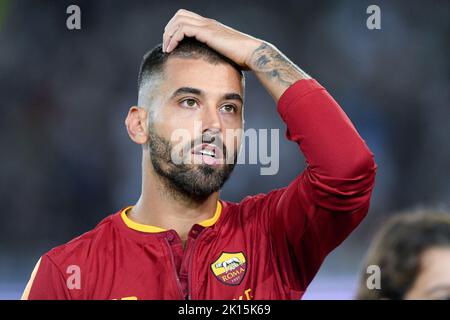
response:
[[[171,56],[194,59],[202,58],[212,64],[227,63],[236,69],[241,78],[244,77],[242,68],[234,61],[211,49],[195,38],[187,37],[180,41],[177,47],[170,53],[163,52],[162,44],[159,44],[144,55],[139,69],[138,92],[152,76],[163,72],[164,64]]]

